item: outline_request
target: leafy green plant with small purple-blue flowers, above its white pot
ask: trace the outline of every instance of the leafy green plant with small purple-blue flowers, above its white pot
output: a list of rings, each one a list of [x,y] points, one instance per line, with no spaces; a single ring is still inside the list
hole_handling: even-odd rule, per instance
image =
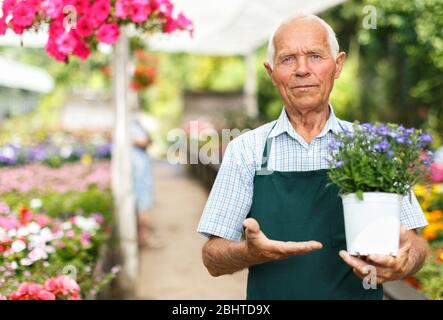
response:
[[[424,174],[423,150],[432,138],[396,124],[355,123],[329,145],[329,178],[341,193],[390,192],[407,195]]]

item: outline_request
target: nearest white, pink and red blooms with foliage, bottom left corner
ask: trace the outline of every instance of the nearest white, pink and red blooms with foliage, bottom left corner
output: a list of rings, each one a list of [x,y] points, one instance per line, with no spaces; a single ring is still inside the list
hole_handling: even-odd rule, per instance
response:
[[[93,276],[98,250],[109,236],[104,223],[99,213],[61,219],[0,204],[0,297],[94,296],[117,272]]]

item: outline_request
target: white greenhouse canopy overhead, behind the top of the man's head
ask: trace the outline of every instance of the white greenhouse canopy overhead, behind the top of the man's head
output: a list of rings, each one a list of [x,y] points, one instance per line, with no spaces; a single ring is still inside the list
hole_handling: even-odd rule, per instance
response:
[[[275,27],[297,13],[317,14],[344,0],[174,0],[194,22],[187,33],[149,38],[153,50],[207,55],[247,55],[267,42]]]

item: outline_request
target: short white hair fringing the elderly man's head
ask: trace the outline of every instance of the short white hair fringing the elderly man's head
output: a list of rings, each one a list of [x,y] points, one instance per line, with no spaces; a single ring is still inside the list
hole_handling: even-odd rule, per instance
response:
[[[275,28],[275,30],[272,32],[271,36],[269,37],[269,42],[268,42],[268,63],[271,66],[271,68],[274,67],[274,58],[275,58],[274,38],[275,38],[275,34],[280,29],[280,27],[282,27],[282,26],[284,26],[286,24],[289,24],[290,22],[293,22],[295,20],[303,19],[303,18],[309,18],[309,19],[316,20],[325,28],[326,33],[328,34],[328,44],[329,44],[329,48],[331,49],[332,56],[334,58],[337,57],[338,51],[339,51],[340,47],[338,45],[337,37],[336,37],[335,32],[332,29],[332,27],[325,20],[323,20],[320,17],[317,17],[316,15],[313,15],[313,14],[297,14],[296,16],[291,17],[291,18],[281,22]]]

